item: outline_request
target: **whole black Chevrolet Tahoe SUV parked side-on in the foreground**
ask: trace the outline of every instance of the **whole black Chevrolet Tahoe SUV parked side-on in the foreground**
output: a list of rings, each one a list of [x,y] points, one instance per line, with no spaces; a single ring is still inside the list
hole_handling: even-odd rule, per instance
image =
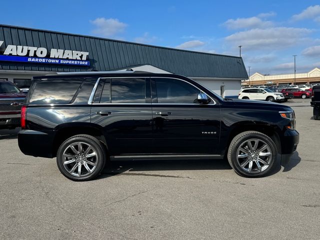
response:
[[[223,99],[175,74],[33,77],[21,113],[21,151],[56,156],[72,180],[94,178],[107,160],[223,157],[242,176],[262,176],[299,140],[292,108]]]

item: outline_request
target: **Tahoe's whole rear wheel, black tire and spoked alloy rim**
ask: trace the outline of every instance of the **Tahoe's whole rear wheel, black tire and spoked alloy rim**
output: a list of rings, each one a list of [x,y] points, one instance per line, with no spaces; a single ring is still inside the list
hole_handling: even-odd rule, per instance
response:
[[[56,154],[60,172],[74,181],[96,177],[103,169],[105,160],[102,143],[90,135],[75,135],[66,139]]]

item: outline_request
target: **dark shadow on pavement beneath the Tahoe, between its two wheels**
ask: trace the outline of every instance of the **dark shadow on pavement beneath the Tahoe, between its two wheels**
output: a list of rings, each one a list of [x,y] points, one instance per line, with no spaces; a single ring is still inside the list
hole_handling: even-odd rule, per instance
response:
[[[126,175],[159,175],[146,174],[143,171],[219,169],[231,169],[231,167],[225,159],[111,161],[104,167],[98,178],[123,174],[123,172]]]

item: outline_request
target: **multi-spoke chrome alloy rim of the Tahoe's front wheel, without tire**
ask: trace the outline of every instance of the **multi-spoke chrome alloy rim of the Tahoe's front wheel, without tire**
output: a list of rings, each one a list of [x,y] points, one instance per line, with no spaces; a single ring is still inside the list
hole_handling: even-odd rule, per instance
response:
[[[270,146],[265,141],[257,138],[244,141],[236,151],[238,165],[249,173],[258,173],[266,170],[271,159]]]

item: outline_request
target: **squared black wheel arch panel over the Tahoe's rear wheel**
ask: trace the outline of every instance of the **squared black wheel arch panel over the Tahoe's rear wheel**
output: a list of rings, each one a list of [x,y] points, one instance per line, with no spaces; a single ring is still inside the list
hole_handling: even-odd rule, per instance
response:
[[[53,138],[53,147],[52,147],[52,157],[56,156],[56,152],[63,141],[68,139],[71,136],[78,134],[87,134],[96,137],[100,142],[103,143],[105,150],[108,149],[106,144],[106,139],[103,134],[103,129],[93,123],[63,123],[54,128],[55,135]]]

